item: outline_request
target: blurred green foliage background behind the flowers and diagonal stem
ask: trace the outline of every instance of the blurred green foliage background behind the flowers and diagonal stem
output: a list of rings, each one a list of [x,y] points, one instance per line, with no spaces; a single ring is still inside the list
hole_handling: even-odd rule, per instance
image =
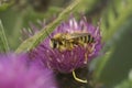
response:
[[[95,24],[101,19],[103,50],[102,55],[91,62],[96,63],[91,65],[95,80],[105,88],[132,88],[132,78],[129,78],[132,69],[132,0],[82,1],[78,10],[70,13],[75,16],[82,13]],[[0,20],[10,51],[15,51],[22,43],[22,29],[30,29],[30,23],[41,28],[40,21],[50,22],[70,4],[72,0],[0,0]]]

